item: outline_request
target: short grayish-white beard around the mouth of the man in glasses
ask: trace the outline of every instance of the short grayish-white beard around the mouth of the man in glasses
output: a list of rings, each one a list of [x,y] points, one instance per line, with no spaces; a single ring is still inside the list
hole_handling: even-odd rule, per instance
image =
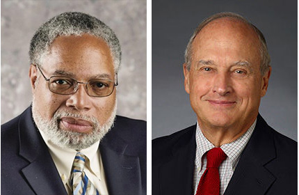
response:
[[[49,139],[51,143],[60,148],[81,150],[92,146],[97,141],[101,141],[108,131],[111,130],[116,116],[116,107],[117,104],[115,102],[111,116],[106,122],[102,123],[97,118],[78,116],[67,111],[57,111],[51,120],[45,120],[35,107],[34,98],[32,113],[38,130],[46,135],[46,138],[43,137],[43,139]],[[69,123],[62,123],[61,120],[63,118],[68,118],[65,120]],[[76,122],[74,124],[74,118],[80,119],[75,119]]]

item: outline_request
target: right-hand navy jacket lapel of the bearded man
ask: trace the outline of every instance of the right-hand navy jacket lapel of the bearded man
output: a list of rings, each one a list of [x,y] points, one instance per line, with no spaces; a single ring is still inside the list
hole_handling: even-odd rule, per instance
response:
[[[122,138],[111,132],[100,143],[108,192],[111,195],[142,194],[139,158],[126,155],[127,146]]]

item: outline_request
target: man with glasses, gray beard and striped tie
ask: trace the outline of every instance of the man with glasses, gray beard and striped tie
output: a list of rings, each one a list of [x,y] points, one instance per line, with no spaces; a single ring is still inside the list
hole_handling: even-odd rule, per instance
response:
[[[115,33],[63,13],[35,32],[29,56],[32,105],[1,126],[1,193],[146,194],[146,123],[115,116]]]

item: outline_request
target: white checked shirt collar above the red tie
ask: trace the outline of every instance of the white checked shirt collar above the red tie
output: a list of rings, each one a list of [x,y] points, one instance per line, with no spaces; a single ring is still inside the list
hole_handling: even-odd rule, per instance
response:
[[[223,146],[220,146],[220,148],[227,155],[229,161],[231,162],[233,170],[236,168],[236,164],[237,162],[239,162],[241,153],[245,148],[246,144],[248,143],[256,124],[257,124],[257,119],[254,120],[254,123],[252,123],[249,129],[243,135],[241,135],[241,137],[239,137],[238,139],[236,139],[231,143],[226,143]],[[202,134],[202,130],[200,130],[200,125],[198,125],[198,122],[197,122],[195,137],[196,137],[195,140],[196,140],[196,148],[197,148],[196,155],[200,157],[198,159],[202,159],[202,156],[205,153],[207,153],[207,151],[216,147],[206,137],[204,137],[204,134]],[[198,160],[195,163],[197,163],[197,167],[200,167],[200,169],[202,169],[202,160]]]

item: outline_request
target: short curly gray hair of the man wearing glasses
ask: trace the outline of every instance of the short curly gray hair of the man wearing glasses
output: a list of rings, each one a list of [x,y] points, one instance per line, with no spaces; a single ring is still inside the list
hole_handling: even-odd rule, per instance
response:
[[[102,38],[107,43],[111,50],[114,70],[117,73],[120,68],[122,52],[115,33],[96,17],[78,12],[62,13],[40,26],[31,39],[30,63],[42,65],[43,57],[48,54],[51,43],[58,36],[81,36],[84,33]]]

